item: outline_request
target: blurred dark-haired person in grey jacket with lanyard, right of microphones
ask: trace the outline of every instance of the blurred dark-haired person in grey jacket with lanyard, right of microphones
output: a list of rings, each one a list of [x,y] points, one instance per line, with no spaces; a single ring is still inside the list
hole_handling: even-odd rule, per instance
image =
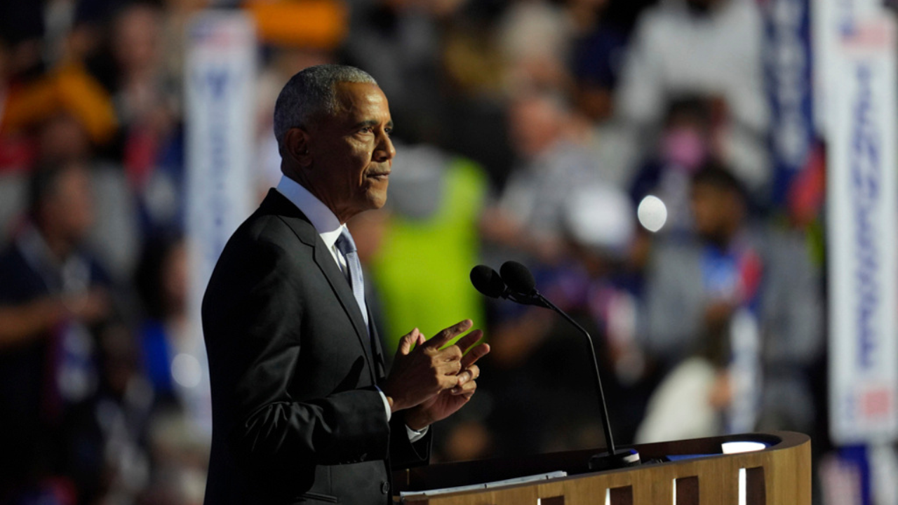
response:
[[[822,350],[819,279],[803,237],[750,219],[744,187],[710,162],[692,176],[696,238],[656,249],[647,350],[673,370],[640,441],[809,431],[809,367]]]

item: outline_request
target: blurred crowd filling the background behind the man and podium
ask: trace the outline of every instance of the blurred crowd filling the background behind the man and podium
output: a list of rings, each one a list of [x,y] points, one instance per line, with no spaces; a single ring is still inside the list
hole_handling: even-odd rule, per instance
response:
[[[183,80],[208,7],[257,23],[259,199],[290,75],[360,66],[389,98],[390,199],[350,223],[385,347],[467,317],[493,347],[436,461],[604,444],[582,335],[471,288],[506,260],[593,335],[619,445],[823,450],[823,188],[812,159],[771,198],[762,4],[0,3],[0,503],[202,502]]]

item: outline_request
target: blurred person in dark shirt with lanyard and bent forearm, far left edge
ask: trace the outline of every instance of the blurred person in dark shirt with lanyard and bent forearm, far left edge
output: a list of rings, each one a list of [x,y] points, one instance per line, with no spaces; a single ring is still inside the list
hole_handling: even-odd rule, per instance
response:
[[[76,477],[99,465],[75,447],[91,428],[70,422],[100,385],[92,329],[111,312],[106,276],[82,248],[92,220],[84,164],[42,167],[29,221],[0,255],[0,501],[67,503],[97,485]]]

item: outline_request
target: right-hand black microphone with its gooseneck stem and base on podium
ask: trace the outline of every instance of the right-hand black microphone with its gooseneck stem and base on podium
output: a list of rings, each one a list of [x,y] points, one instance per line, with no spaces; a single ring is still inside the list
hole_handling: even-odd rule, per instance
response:
[[[489,269],[489,267],[486,268]],[[489,270],[495,274],[496,270]],[[536,290],[536,280],[533,279],[533,273],[531,273],[530,269],[523,264],[517,261],[506,261],[502,264],[502,267],[499,268],[499,271],[501,272],[502,282],[508,287],[508,291],[511,292],[508,298],[513,301],[517,301],[515,298],[518,297],[524,298],[530,302],[529,305],[542,306],[555,311],[561,315],[561,317],[565,318],[568,323],[573,324],[577,330],[583,333],[586,337],[586,342],[589,343],[589,354],[593,357],[593,368],[595,371],[595,389],[599,394],[599,414],[602,418],[605,441],[608,443],[607,452],[599,453],[589,458],[589,469],[610,470],[612,468],[638,465],[639,453],[636,449],[618,450],[614,447],[612,427],[611,423],[608,421],[608,406],[607,403],[605,403],[605,394],[602,389],[602,377],[599,376],[599,362],[598,359],[595,358],[593,337],[590,336],[589,332],[585,331],[583,326],[580,326],[577,321],[574,321],[570,315],[551,303]],[[473,277],[473,273],[474,272],[471,271],[471,277]],[[478,288],[478,290],[480,290],[480,288]],[[482,293],[483,291],[480,292]]]

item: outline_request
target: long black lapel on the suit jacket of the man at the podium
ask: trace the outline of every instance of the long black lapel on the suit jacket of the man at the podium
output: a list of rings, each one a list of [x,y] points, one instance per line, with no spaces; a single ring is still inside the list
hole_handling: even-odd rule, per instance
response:
[[[358,343],[362,346],[365,361],[368,363],[371,380],[376,384],[374,357],[371,350],[372,339],[368,336],[368,332],[365,329],[365,319],[362,318],[362,311],[358,308],[356,297],[352,294],[352,288],[349,286],[343,272],[339,270],[337,262],[334,261],[328,250],[328,246],[321,240],[321,235],[318,235],[308,217],[305,217],[299,208],[296,208],[289,199],[286,199],[277,190],[269,190],[268,196],[262,201],[260,210],[280,216],[286,225],[293,230],[300,242],[312,247],[315,264],[321,270],[321,273],[324,274],[324,277],[328,279],[330,289],[339,299],[340,305],[343,306],[343,310],[356,329]],[[381,368],[383,368],[383,365],[381,365]]]

